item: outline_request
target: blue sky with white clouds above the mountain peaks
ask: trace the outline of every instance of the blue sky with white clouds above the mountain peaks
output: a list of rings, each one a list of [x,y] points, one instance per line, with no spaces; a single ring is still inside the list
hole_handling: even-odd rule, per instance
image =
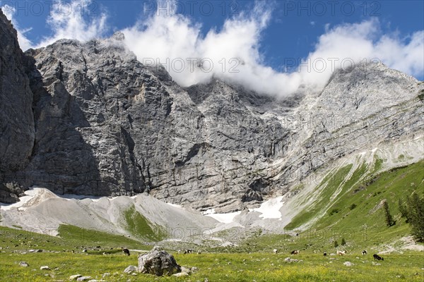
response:
[[[228,74],[228,66],[212,73],[247,84],[278,81],[273,89],[261,85],[270,94],[281,92],[282,85],[293,92],[302,83],[325,80],[329,72],[299,75],[298,65],[308,58],[377,57],[424,80],[424,1],[0,1],[0,6],[20,32],[21,47],[123,30],[140,61],[205,56],[220,66],[222,58],[229,65],[236,57],[244,75]],[[211,78],[169,71],[184,86]]]

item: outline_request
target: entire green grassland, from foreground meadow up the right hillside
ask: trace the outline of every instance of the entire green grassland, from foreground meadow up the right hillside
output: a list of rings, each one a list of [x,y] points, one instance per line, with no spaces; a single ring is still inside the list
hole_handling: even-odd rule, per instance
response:
[[[375,166],[379,164],[377,161]],[[139,252],[131,251],[128,257],[122,247],[151,250],[156,241],[167,236],[132,208],[124,212],[126,228],[134,235],[131,238],[68,225],[60,226],[59,236],[28,232],[20,226],[0,227],[0,281],[69,281],[69,276],[81,274],[104,281],[423,282],[424,252],[402,248],[411,226],[401,218],[397,205],[399,198],[412,192],[422,197],[423,166],[420,161],[377,173],[377,167],[364,164],[351,171],[349,179],[346,176],[352,167],[340,168],[319,184],[325,187],[317,200],[288,226],[293,234],[314,219],[308,230],[293,236],[289,232],[269,234],[258,229],[232,247],[208,247],[205,241],[204,245],[192,247],[202,250],[199,255],[178,254],[176,250],[181,247],[175,245],[167,251],[175,255],[177,263],[198,269],[180,278],[124,274],[126,266],[138,264]],[[333,197],[335,192],[337,197]],[[396,221],[394,226],[387,227],[384,222],[384,200]],[[345,245],[341,245],[343,239]],[[334,247],[334,241],[338,247]],[[423,243],[419,246],[423,247]],[[274,248],[278,249],[277,254],[273,254]],[[388,248],[392,252],[382,253]],[[28,252],[31,249],[42,252]],[[88,251],[83,252],[84,249]],[[290,255],[292,250],[300,250],[300,254]],[[334,255],[337,250],[348,252],[342,257]],[[362,250],[367,250],[367,255],[361,255]],[[375,261],[373,254],[381,255],[384,261]],[[285,262],[287,257],[298,261]],[[19,262],[29,266],[19,266]],[[346,266],[345,262],[352,265]],[[44,265],[50,270],[40,270]]]

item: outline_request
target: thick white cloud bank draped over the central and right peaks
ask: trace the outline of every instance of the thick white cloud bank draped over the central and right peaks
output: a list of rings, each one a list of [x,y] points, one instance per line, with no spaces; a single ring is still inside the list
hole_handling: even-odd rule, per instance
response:
[[[263,55],[259,52],[261,32],[270,19],[271,8],[259,3],[250,13],[225,20],[221,30],[209,30],[204,37],[199,24],[172,11],[155,13],[123,32],[127,46],[139,61],[163,64],[182,86],[215,77],[264,94],[284,96],[298,90],[300,85],[323,87],[335,68],[375,58],[411,75],[423,73],[424,31],[414,33],[407,42],[408,38],[382,35],[378,20],[333,28],[326,25],[314,51],[306,59],[293,58],[302,63],[298,71],[279,73],[263,63]],[[208,72],[197,66],[192,68],[189,66],[191,58],[203,59],[206,70],[210,66],[213,68]]]

